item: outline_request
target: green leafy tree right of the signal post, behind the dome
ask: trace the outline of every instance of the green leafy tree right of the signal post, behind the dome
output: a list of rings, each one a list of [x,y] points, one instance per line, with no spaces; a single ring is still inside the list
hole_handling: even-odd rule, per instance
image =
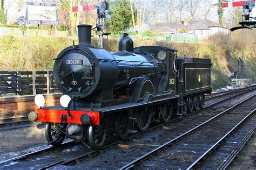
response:
[[[111,19],[108,21],[112,34],[120,34],[131,26],[132,14],[128,1],[114,1],[111,3]]]

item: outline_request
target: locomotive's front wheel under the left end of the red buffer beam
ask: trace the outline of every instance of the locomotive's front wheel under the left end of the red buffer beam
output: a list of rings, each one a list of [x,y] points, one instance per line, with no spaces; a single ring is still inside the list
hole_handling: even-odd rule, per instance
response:
[[[60,146],[65,139],[65,131],[59,123],[46,123],[45,137],[46,140],[53,146]]]

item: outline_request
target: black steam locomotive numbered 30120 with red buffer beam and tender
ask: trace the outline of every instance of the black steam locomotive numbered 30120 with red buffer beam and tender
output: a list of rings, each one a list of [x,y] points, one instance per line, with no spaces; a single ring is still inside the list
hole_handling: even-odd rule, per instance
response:
[[[146,131],[152,120],[170,122],[173,116],[203,108],[211,93],[208,59],[177,57],[161,46],[133,48],[124,34],[119,52],[91,45],[91,25],[78,25],[79,44],[65,48],[55,59],[53,75],[64,94],[60,104],[38,107],[31,122],[45,122],[49,144],[68,137],[100,149],[107,134],[125,139],[130,132]]]

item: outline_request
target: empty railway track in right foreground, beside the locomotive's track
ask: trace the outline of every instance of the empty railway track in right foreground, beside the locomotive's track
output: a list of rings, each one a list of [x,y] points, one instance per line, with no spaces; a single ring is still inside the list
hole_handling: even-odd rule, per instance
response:
[[[248,118],[253,117],[251,121],[255,123],[255,101],[256,95],[254,94],[195,128],[147,152],[142,157],[129,162],[120,169],[131,169],[137,166],[142,169],[161,169],[166,168],[165,165],[170,168],[197,168],[207,155],[214,152],[234,130],[242,123],[248,122]],[[255,128],[254,124],[249,123],[249,125],[252,126],[251,128]],[[212,143],[215,140],[217,142]],[[177,158],[183,159],[178,160]],[[151,160],[146,162],[149,159]]]

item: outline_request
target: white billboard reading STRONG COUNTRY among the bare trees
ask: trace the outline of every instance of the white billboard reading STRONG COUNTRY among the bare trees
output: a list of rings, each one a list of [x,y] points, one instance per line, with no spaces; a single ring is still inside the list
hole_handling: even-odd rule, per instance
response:
[[[28,3],[25,24],[59,25],[56,4]]]

